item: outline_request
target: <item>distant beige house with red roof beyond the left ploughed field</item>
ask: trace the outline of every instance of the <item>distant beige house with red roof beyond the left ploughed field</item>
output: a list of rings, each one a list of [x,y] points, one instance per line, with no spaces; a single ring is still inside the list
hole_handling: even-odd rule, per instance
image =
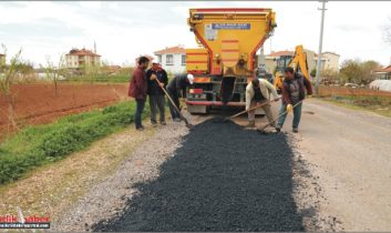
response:
[[[95,47],[96,48],[96,47]],[[75,71],[93,71],[101,65],[101,55],[86,49],[72,49],[65,54],[65,67]]]

